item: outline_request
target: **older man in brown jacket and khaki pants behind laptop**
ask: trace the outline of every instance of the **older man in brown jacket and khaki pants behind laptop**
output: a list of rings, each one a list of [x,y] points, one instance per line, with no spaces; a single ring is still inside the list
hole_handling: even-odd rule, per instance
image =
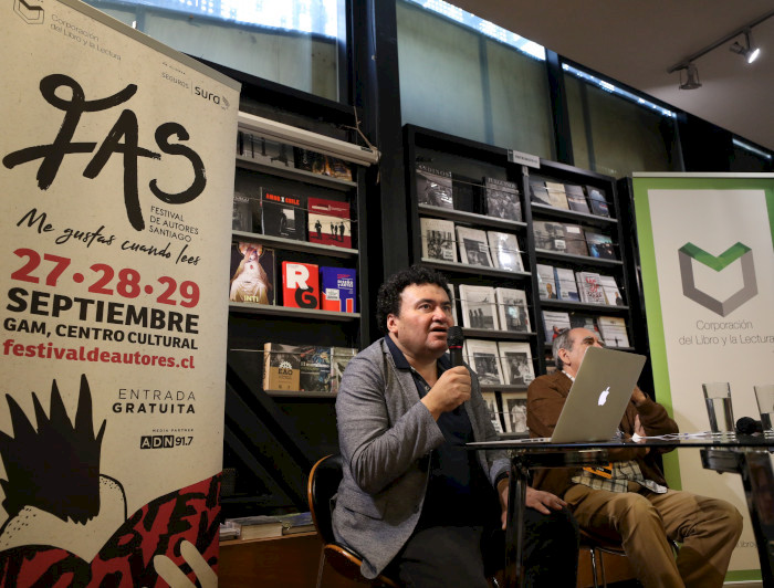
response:
[[[586,328],[565,329],[554,338],[558,370],[536,378],[526,392],[533,437],[552,435],[586,350],[602,346]],[[665,408],[638,387],[619,428],[625,435],[678,432]],[[669,490],[657,461],[661,452],[611,449],[606,466],[541,470],[533,485],[562,496],[589,535],[620,542],[646,588],[721,587],[742,516],[725,501]],[[682,544],[677,560],[670,539]]]

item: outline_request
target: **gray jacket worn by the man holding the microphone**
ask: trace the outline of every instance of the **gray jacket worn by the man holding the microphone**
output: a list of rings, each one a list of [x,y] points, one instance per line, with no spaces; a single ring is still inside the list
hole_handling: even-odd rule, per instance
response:
[[[477,441],[496,439],[472,375],[464,403]],[[429,476],[430,452],[444,441],[409,371],[398,370],[384,339],[347,366],[336,418],[344,477],[333,512],[336,540],[363,556],[360,568],[375,578],[400,550],[419,521]],[[492,484],[509,469],[504,452],[480,451]]]

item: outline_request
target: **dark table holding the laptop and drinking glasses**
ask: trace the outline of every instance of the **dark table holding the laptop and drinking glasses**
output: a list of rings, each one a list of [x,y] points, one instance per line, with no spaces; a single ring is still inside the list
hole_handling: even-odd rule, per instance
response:
[[[583,468],[609,462],[608,450],[631,447],[630,440],[596,443],[546,443],[519,440],[468,443],[470,450],[505,450],[511,456],[511,484],[505,529],[505,586],[524,586],[522,547],[524,508],[530,471],[543,468]],[[774,586],[774,472],[770,451],[774,437],[755,435],[674,435],[670,439],[641,440],[638,447],[701,449],[701,462],[708,470],[738,473],[750,510],[764,586]]]

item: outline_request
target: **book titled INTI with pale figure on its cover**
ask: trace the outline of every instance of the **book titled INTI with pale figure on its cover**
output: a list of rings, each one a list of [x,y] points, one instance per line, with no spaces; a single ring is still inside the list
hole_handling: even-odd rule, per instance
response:
[[[274,304],[274,250],[236,241],[231,246],[229,301]]]

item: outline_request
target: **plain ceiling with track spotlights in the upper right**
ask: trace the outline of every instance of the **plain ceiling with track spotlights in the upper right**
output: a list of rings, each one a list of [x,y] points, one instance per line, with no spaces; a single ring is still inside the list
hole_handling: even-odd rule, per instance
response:
[[[702,87],[667,70],[774,10],[772,0],[450,0],[451,3],[774,151],[774,17],[753,28],[761,56],[698,57]],[[740,35],[735,40],[743,42]],[[684,75],[684,72],[683,72]]]

